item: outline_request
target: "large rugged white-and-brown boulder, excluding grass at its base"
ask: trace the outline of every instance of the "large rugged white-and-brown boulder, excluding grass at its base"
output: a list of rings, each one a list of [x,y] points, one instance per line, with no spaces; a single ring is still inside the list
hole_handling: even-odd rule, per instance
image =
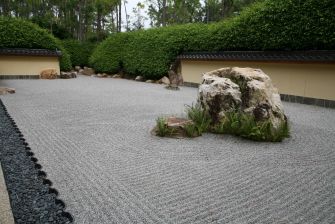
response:
[[[257,122],[270,121],[274,129],[287,121],[278,90],[260,69],[233,67],[205,73],[198,102],[213,123],[224,119],[226,112],[251,115]]]

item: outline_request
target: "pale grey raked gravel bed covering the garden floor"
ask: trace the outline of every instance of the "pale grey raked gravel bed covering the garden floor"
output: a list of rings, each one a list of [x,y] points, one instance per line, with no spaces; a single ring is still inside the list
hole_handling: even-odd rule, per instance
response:
[[[197,89],[122,79],[1,80],[76,223],[335,223],[335,110],[284,103],[292,137],[150,134]]]

